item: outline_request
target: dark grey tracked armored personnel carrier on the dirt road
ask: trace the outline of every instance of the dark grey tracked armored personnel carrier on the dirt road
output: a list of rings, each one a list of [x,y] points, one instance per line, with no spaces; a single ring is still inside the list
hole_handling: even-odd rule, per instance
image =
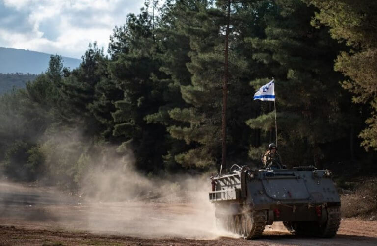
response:
[[[260,237],[265,226],[275,221],[282,221],[295,235],[336,235],[341,202],[329,170],[313,166],[258,170],[238,165],[230,170],[211,177],[209,198],[219,226],[247,239]]]

